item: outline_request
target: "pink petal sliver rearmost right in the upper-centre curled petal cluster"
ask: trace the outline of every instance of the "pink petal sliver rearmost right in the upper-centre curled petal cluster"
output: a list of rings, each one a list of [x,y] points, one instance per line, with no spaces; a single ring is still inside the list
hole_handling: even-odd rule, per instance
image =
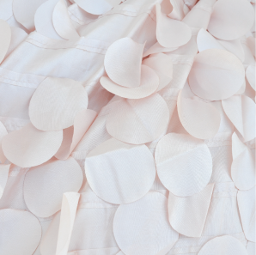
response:
[[[173,79],[172,58],[164,53],[157,53],[143,60],[143,64],[149,66],[159,76],[159,87],[157,91],[168,85]]]

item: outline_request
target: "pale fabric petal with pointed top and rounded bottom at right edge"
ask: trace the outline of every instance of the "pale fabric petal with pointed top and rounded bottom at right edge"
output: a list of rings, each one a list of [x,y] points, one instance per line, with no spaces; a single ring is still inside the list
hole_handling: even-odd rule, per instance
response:
[[[235,186],[247,191],[256,185],[256,160],[254,149],[249,149],[237,137],[232,136],[233,162],[231,165],[231,177]]]

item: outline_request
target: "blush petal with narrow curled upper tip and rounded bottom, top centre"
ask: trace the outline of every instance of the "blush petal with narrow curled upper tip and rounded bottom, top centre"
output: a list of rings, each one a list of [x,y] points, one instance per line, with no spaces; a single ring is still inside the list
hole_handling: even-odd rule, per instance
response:
[[[174,48],[186,45],[192,37],[191,28],[182,21],[168,18],[161,11],[159,3],[155,3],[156,39],[163,47]]]

